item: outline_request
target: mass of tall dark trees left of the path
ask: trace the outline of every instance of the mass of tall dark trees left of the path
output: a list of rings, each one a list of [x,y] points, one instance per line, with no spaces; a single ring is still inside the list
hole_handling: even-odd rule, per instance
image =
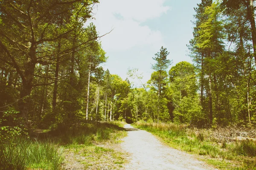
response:
[[[26,127],[28,120],[34,127],[48,128],[81,119],[76,113],[84,110],[78,101],[86,94],[88,63],[92,82],[100,84],[99,65],[107,59],[96,26],[84,27],[95,3],[99,2],[1,1],[0,71],[5,75],[0,76],[0,108],[12,105]]]

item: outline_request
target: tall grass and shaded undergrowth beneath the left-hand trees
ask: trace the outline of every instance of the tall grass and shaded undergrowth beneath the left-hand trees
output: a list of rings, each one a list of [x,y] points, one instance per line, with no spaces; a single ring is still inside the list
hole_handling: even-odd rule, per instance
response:
[[[63,149],[117,139],[120,122],[87,122],[29,136],[19,127],[0,127],[0,170],[60,170]],[[42,137],[43,136],[43,137]],[[75,151],[74,150],[74,151]]]

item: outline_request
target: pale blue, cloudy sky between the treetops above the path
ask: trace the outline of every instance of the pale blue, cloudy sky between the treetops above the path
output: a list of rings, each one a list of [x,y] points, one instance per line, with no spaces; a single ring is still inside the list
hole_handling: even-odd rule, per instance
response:
[[[192,63],[186,45],[193,38],[191,21],[197,3],[201,0],[101,0],[92,22],[99,35],[113,29],[100,38],[108,56],[103,68],[122,79],[128,77],[128,68],[138,68],[145,83],[153,72],[152,57],[162,46],[170,53],[169,68],[181,61]],[[140,86],[138,80],[129,79]]]

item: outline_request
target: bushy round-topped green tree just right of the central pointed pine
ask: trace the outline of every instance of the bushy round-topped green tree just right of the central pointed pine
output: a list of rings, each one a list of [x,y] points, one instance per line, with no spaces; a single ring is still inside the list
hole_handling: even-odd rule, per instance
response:
[[[205,121],[199,105],[195,67],[189,62],[179,62],[170,69],[169,77],[166,95],[174,106],[174,121],[203,126]]]

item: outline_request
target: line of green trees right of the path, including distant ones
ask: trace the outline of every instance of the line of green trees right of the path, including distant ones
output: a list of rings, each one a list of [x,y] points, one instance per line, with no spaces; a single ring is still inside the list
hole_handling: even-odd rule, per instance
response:
[[[194,37],[187,45],[193,65],[179,62],[167,70],[171,61],[162,47],[147,87],[128,95],[133,119],[200,127],[253,124],[254,5],[254,0],[202,0],[194,8]]]

